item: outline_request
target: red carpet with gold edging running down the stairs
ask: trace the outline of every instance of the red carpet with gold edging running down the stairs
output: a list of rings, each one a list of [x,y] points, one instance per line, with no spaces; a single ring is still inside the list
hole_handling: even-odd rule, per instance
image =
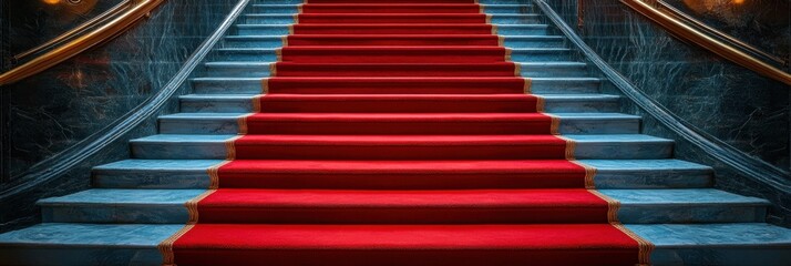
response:
[[[301,7],[166,264],[647,263],[479,4],[370,2]]]

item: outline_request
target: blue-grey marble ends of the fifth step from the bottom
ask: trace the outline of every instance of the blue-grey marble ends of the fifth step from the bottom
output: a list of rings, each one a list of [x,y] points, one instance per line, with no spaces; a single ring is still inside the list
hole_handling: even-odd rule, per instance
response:
[[[640,116],[623,113],[551,113],[561,119],[558,132],[564,134],[630,134],[638,133]],[[246,113],[176,113],[160,116],[162,134],[233,134],[238,133],[238,119]],[[331,113],[317,115],[331,116]],[[442,114],[446,115],[446,114]],[[465,114],[460,114],[464,116]]]

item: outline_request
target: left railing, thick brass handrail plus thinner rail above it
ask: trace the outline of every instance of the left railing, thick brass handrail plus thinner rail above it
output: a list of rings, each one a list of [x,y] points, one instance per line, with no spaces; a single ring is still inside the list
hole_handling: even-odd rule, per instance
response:
[[[0,74],[0,85],[11,84],[38,74],[93,47],[112,40],[147,17],[164,0],[126,0],[76,28],[31,50],[17,54],[16,60],[42,51],[41,55]],[[93,30],[91,30],[93,29]],[[90,30],[90,31],[89,31]]]

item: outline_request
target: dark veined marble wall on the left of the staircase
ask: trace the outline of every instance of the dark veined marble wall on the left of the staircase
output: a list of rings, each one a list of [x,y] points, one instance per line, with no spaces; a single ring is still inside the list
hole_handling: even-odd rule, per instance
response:
[[[51,163],[48,160],[91,141],[150,100],[237,2],[164,1],[151,18],[115,40],[33,78],[0,88],[7,116],[3,139],[8,140],[2,153],[8,168],[2,173],[6,182],[0,190],[30,182],[27,178],[35,178],[28,175],[31,170],[47,167]],[[24,10],[14,9],[21,11]],[[29,12],[27,16],[39,16],[35,9]],[[10,24],[9,42],[17,40],[20,29],[32,27],[27,23]],[[3,34],[3,39],[9,38]],[[188,85],[183,85],[182,93],[188,91]],[[161,112],[175,112],[176,103],[173,100]],[[0,202],[0,231],[35,222],[35,200],[89,187],[91,166],[129,157],[127,140],[155,132],[156,122],[151,119],[65,175]]]

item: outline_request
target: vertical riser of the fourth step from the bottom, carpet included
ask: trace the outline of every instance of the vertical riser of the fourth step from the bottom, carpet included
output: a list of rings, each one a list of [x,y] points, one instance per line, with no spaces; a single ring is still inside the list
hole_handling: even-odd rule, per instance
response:
[[[380,146],[292,146],[287,151],[261,144],[261,152],[239,154],[238,158],[300,158],[300,160],[490,160],[490,158],[554,158],[535,152],[530,146],[479,146],[479,147],[380,147]],[[319,151],[317,151],[319,150]],[[135,158],[226,158],[223,142],[161,143],[132,142]],[[266,152],[264,152],[266,151]],[[671,142],[640,143],[577,143],[577,158],[668,158],[672,153]],[[411,154],[390,155],[388,154]]]

